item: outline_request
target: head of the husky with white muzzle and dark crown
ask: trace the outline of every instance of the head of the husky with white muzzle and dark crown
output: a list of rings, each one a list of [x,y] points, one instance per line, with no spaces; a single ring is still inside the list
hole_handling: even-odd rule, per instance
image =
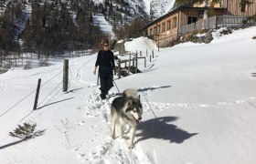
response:
[[[128,108],[126,109],[126,113],[130,115],[130,118],[138,124],[142,119],[143,115],[143,106],[140,100],[140,96],[138,97],[130,97],[128,100]]]

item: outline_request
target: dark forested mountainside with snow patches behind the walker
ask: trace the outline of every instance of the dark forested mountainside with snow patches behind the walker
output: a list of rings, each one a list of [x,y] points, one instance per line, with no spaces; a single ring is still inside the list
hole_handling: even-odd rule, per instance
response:
[[[4,56],[20,51],[55,56],[73,49],[95,49],[102,38],[109,37],[95,17],[101,15],[117,32],[135,18],[148,16],[144,1],[6,0],[0,7],[0,50]]]

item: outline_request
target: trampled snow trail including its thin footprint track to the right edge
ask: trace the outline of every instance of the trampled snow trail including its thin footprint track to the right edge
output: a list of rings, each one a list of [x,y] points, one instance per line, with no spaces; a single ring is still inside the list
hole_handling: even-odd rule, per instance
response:
[[[110,103],[114,97],[110,97],[107,101],[101,101],[100,89],[95,83],[91,83],[91,81],[86,80],[87,77],[84,74],[84,70],[91,69],[91,66],[88,65],[94,58],[91,57],[87,63],[84,63],[81,67],[75,70],[76,77],[74,77],[72,83],[80,84],[83,86],[83,89],[89,92],[89,96],[87,98],[87,105],[82,108],[83,115],[80,120],[77,120],[77,126],[83,126],[85,122],[82,118],[97,118],[98,121],[101,121],[102,124],[106,124],[106,128],[108,130],[101,132],[101,129],[98,129],[98,126],[92,126],[91,128],[97,131],[98,136],[96,136],[97,144],[94,145],[94,149],[82,149],[84,146],[80,146],[78,148],[72,149],[72,151],[76,152],[77,157],[84,162],[89,163],[145,163],[145,164],[153,164],[157,163],[155,154],[152,152],[147,152],[143,149],[139,138],[135,138],[135,148],[130,150],[127,148],[127,139],[129,138],[128,129],[125,131],[125,135],[123,139],[116,138],[112,139],[110,136]],[[76,63],[80,64],[80,63]],[[229,106],[239,103],[248,102],[256,97],[250,97],[248,100],[237,100],[235,102],[219,102],[217,104],[170,104],[170,103],[157,103],[157,102],[148,102],[147,97],[151,97],[151,92],[154,89],[159,87],[144,87],[138,88],[139,93],[143,96],[142,98],[144,106],[144,113],[146,114],[154,114],[159,111],[164,111],[168,108],[208,108],[212,106]],[[117,95],[117,92],[114,88],[110,91],[110,95]],[[78,103],[79,104],[79,103]],[[80,106],[80,105],[79,105]],[[157,116],[155,115],[155,118]],[[99,120],[100,119],[100,120]],[[144,125],[146,126],[146,125]],[[137,132],[138,133],[138,132]],[[189,134],[188,134],[189,135]],[[191,134],[195,135],[195,134]],[[95,143],[95,140],[93,140]]]

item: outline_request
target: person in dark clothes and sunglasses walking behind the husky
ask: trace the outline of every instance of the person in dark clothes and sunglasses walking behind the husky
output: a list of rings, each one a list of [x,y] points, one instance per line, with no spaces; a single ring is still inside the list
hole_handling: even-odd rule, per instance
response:
[[[109,41],[105,40],[103,42],[103,49],[98,52],[95,68],[93,70],[93,74],[96,75],[97,67],[99,67],[98,74],[101,83],[101,99],[105,99],[106,95],[108,95],[108,91],[113,87],[112,78],[115,65],[114,56],[109,46]]]

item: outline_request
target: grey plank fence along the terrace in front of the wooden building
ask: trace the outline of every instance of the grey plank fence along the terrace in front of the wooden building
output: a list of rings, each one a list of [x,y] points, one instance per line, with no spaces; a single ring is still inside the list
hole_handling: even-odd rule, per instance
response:
[[[212,29],[219,27],[228,27],[228,26],[255,26],[256,23],[251,21],[246,25],[243,23],[248,17],[244,16],[234,16],[234,15],[221,15],[221,16],[212,16],[206,19],[198,20],[196,23],[189,24],[187,26],[180,27],[180,34],[189,33],[196,30],[202,29]]]

